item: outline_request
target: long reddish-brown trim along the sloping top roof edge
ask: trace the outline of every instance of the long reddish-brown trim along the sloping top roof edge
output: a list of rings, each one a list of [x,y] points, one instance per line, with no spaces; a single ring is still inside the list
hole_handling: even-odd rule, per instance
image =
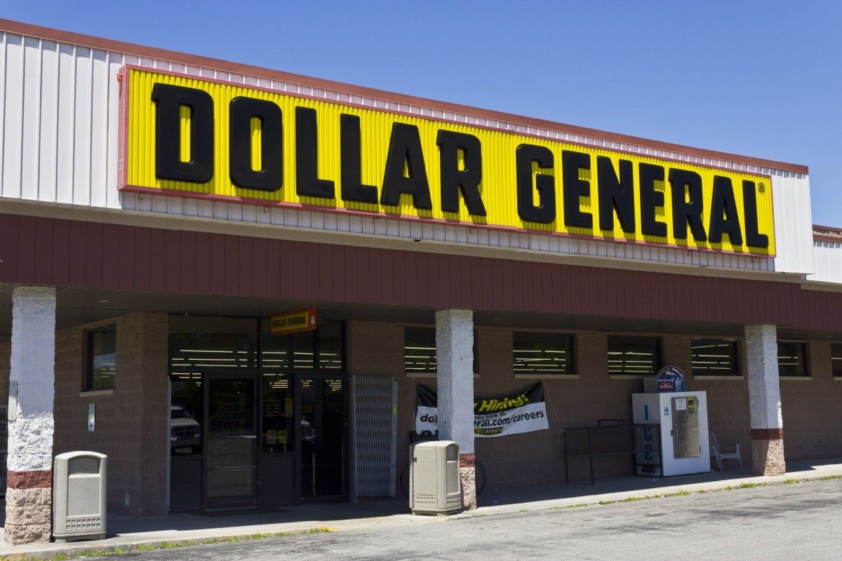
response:
[[[188,53],[182,53],[175,50],[158,49],[156,47],[136,45],[134,43],[126,43],[124,41],[119,40],[104,39],[101,37],[95,37],[93,35],[78,34],[72,31],[52,29],[35,24],[24,24],[23,22],[13,21],[11,19],[0,18],[0,31],[13,34],[27,35],[29,37],[35,37],[43,40],[61,41],[65,43],[71,43],[73,45],[82,45],[94,49],[112,50],[127,55],[155,58],[164,61],[177,62],[179,64],[187,64],[191,66],[205,66],[207,68],[212,68],[221,71],[229,71],[237,74],[246,74],[255,77],[265,77],[274,80],[281,80],[284,82],[293,82],[306,87],[333,89],[342,93],[350,93],[370,98],[382,98],[386,101],[392,101],[395,103],[421,105],[426,106],[428,108],[438,109],[440,111],[470,114],[472,116],[481,117],[483,119],[510,121],[512,123],[524,124],[526,126],[534,126],[543,129],[557,130],[559,132],[566,132],[573,135],[594,136],[603,140],[625,142],[628,144],[650,147],[657,150],[680,152],[691,156],[700,156],[723,161],[731,161],[733,163],[746,164],[750,166],[770,167],[776,170],[786,172],[797,172],[805,174],[809,173],[808,167],[801,164],[788,163],[784,161],[765,160],[763,158],[755,158],[752,156],[742,156],[739,154],[730,154],[727,152],[694,148],[692,146],[683,146],[669,142],[661,142],[658,140],[645,139],[638,136],[621,135],[619,133],[612,133],[605,130],[589,129],[587,127],[580,127],[573,124],[563,124],[545,119],[535,119],[525,117],[523,115],[508,114],[501,111],[475,108],[469,105],[461,105],[459,103],[448,103],[429,98],[418,98],[403,93],[394,93],[370,87],[354,86],[353,84],[347,84],[344,82],[333,82],[331,80],[324,80],[322,78],[316,77],[308,77],[303,76],[301,74],[293,74],[285,71],[272,70],[270,68],[264,68],[261,66],[240,64],[232,61],[223,61],[221,59],[210,58],[207,56],[190,55]]]

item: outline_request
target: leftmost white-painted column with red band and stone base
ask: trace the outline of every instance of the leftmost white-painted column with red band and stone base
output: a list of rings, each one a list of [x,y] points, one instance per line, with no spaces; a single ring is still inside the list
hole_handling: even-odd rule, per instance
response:
[[[9,382],[18,383],[8,423],[6,542],[49,542],[56,359],[56,288],[22,286],[12,294]]]

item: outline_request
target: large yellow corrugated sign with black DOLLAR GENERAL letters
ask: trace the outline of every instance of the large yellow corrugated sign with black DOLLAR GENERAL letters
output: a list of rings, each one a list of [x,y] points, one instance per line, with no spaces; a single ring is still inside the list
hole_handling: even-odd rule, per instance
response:
[[[126,66],[120,188],[772,256],[770,178]]]

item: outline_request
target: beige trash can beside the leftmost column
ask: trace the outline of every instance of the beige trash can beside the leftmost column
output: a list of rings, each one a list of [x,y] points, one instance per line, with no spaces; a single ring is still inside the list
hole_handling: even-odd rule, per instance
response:
[[[53,460],[53,537],[72,542],[105,537],[105,466],[98,452],[66,452]]]

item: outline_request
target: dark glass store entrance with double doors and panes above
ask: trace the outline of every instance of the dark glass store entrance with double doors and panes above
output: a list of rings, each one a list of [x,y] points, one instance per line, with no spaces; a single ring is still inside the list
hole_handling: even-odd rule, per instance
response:
[[[347,498],[344,325],[266,327],[170,317],[170,511]]]

